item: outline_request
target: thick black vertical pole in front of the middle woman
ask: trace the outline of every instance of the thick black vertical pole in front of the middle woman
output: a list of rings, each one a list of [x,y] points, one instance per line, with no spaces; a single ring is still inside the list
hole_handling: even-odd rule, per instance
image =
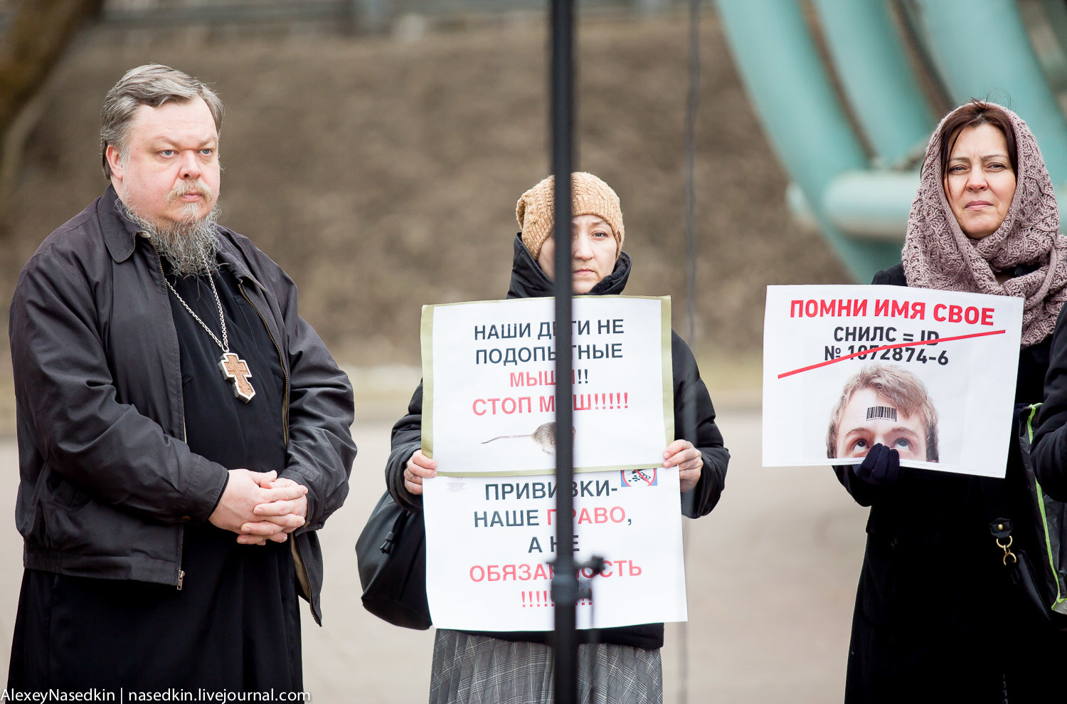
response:
[[[578,642],[574,569],[574,438],[571,428],[571,172],[574,145],[574,2],[552,0],[552,171],[555,175],[553,239],[556,244],[556,603],[557,704],[577,695]]]

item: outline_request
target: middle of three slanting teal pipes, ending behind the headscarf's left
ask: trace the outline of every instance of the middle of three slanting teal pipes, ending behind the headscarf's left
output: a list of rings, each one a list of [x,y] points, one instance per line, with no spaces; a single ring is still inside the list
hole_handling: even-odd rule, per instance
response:
[[[901,45],[886,0],[815,0],[841,87],[875,166],[922,156],[937,124]]]

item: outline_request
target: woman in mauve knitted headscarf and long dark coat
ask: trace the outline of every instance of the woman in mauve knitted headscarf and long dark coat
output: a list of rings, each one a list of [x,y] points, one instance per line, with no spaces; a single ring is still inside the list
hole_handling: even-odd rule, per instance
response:
[[[1023,298],[1016,402],[1039,403],[1050,348],[1067,347],[1052,338],[1067,300],[1058,230],[1034,136],[1010,110],[973,100],[934,131],[903,262],[874,283]],[[1038,554],[1019,453],[1004,480],[901,469],[881,444],[862,465],[834,470],[871,506],[845,702],[1047,701],[1067,639],[1026,610],[990,533],[1008,516],[1016,548]]]

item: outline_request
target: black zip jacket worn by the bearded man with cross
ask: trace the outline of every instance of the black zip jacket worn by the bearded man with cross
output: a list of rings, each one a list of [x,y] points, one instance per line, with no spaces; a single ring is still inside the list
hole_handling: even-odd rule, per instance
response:
[[[214,510],[226,469],[182,441],[178,340],[155,248],[126,229],[114,189],[49,235],[11,304],[26,567],[179,584],[184,526]],[[292,280],[220,228],[220,256],[275,341],[286,377],[282,476],[307,487],[290,543],[319,620],[314,531],[340,507],[355,457],[352,389],[297,312]]]

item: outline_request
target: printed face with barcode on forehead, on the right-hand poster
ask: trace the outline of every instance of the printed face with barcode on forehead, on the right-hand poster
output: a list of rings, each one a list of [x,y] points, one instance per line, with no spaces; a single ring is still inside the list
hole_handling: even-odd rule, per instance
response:
[[[874,389],[853,394],[841,414],[838,457],[865,457],[880,442],[901,453],[901,459],[926,459],[925,431],[919,416],[905,416]]]

